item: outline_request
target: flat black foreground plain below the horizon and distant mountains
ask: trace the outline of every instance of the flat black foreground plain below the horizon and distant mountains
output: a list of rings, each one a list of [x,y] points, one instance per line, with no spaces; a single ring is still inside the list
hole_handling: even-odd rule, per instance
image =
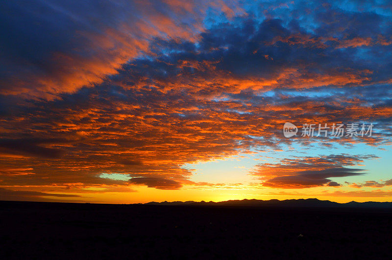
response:
[[[392,210],[0,202],[0,259],[391,259]]]

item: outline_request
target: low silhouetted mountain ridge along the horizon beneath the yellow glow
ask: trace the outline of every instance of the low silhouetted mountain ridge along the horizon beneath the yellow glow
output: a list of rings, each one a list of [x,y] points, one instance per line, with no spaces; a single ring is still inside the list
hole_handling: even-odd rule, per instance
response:
[[[140,203],[139,203],[140,204]],[[347,203],[338,203],[329,200],[313,199],[287,199],[287,200],[258,200],[258,199],[243,199],[243,200],[227,200],[221,202],[205,202],[205,201],[173,201],[173,202],[148,202],[143,205],[172,205],[172,206],[249,206],[249,207],[352,207],[352,208],[392,208],[392,202],[356,202],[351,201]]]

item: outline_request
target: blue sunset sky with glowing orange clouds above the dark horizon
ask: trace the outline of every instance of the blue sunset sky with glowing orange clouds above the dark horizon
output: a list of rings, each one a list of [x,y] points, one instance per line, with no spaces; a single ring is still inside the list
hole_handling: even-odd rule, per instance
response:
[[[392,201],[389,0],[1,1],[0,35],[0,200]]]

